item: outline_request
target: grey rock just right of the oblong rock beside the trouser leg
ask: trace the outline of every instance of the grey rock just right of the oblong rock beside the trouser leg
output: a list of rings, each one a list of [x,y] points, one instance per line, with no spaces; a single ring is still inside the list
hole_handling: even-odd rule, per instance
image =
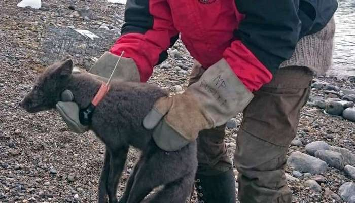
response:
[[[339,153],[339,152],[322,149],[322,150],[317,150],[314,153],[314,156],[319,159],[324,160],[330,166],[338,168],[339,170],[344,169],[344,161],[343,161],[341,153]]]

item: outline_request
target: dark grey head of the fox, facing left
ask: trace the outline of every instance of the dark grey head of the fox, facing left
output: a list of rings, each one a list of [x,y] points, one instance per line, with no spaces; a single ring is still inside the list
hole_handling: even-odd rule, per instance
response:
[[[29,113],[55,108],[72,75],[72,70],[73,60],[67,58],[48,66],[20,102],[20,106]]]

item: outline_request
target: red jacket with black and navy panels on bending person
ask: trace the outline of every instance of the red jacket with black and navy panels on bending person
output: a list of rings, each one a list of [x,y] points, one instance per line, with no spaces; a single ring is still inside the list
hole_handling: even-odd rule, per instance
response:
[[[309,30],[302,27],[300,5],[295,0],[128,0],[122,36],[110,51],[120,55],[124,50],[145,82],[181,33],[192,57],[204,67],[225,58],[255,91],[270,82],[305,35],[302,30]]]

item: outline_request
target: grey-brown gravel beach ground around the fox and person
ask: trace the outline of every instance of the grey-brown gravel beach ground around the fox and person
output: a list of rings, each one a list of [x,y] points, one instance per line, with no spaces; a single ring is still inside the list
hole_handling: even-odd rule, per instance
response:
[[[17,8],[14,1],[2,1],[0,7],[0,202],[95,202],[104,146],[87,132],[77,135],[68,131],[55,111],[28,114],[18,102],[28,92],[44,66],[35,57],[39,38],[47,26],[98,28],[102,23],[118,35],[124,6],[105,1],[43,1],[40,10]],[[74,9],[91,7],[95,20],[71,17]],[[178,41],[164,65],[156,68],[151,83],[168,88],[172,93],[187,86],[192,58]],[[181,68],[176,68],[180,66]],[[166,67],[166,69],[165,69]],[[182,71],[185,70],[185,71]],[[177,74],[176,72],[179,72]],[[317,78],[346,89],[354,89],[354,81],[332,77]],[[324,96],[322,90],[312,95]],[[235,128],[227,130],[230,152],[235,150]],[[355,123],[333,117],[323,110],[306,106],[302,110],[297,138],[303,145],[325,141],[355,153]],[[327,135],[331,134],[332,139]],[[291,146],[305,152],[304,147]],[[122,182],[128,178],[138,152],[131,150]],[[291,172],[290,168],[287,168]],[[344,182],[353,181],[343,171],[331,168],[324,174],[322,192],[303,186],[303,180],[290,181],[294,202],[335,202],[325,195],[328,188],[335,193]],[[121,195],[124,184],[119,186]],[[342,202],[341,200],[339,202]]]

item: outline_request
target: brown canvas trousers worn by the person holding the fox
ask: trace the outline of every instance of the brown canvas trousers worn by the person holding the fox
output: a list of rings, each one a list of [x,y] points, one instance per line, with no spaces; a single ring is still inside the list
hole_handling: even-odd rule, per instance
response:
[[[202,73],[195,63],[190,84]],[[254,92],[245,108],[234,154],[242,203],[291,203],[284,172],[286,153],[296,135],[300,110],[308,100],[311,79],[306,67],[282,68],[270,83]],[[199,133],[197,173],[213,175],[233,167],[224,143],[224,127]]]

